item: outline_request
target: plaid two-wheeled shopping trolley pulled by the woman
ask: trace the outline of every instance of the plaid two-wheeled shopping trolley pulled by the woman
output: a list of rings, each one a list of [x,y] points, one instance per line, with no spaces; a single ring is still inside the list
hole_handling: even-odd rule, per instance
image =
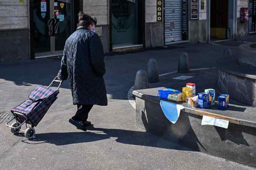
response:
[[[34,137],[34,127],[42,120],[59,94],[59,87],[62,81],[57,80],[57,78],[58,77],[56,77],[48,87],[37,86],[29,95],[28,100],[11,110],[14,117],[6,123],[6,126],[11,128],[13,134],[24,131],[21,127],[26,124],[27,129],[24,131],[25,137],[28,139]],[[59,82],[57,90],[49,88],[54,82]],[[8,125],[14,119],[15,122]],[[27,124],[30,124],[31,128],[28,128]]]

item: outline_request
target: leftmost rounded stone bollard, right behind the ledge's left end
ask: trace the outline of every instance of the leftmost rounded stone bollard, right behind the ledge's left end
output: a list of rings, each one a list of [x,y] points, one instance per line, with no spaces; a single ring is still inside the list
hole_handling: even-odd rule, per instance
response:
[[[145,70],[139,70],[136,73],[134,90],[149,88],[147,72]]]

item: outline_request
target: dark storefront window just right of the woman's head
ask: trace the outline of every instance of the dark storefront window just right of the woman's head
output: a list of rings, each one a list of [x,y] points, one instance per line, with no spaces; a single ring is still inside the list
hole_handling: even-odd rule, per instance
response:
[[[137,0],[112,0],[113,45],[137,44]]]

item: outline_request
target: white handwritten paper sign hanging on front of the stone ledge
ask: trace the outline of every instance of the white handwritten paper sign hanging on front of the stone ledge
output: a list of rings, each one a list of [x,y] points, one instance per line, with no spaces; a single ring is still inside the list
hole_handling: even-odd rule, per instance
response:
[[[205,116],[203,115],[202,123],[201,125],[214,125],[221,128],[228,129],[229,121],[223,120],[223,119],[216,119],[213,117]]]

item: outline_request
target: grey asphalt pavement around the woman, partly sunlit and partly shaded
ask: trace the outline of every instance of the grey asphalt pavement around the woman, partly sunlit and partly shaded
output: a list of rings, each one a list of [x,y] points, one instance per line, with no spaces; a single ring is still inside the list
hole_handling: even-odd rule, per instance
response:
[[[34,139],[27,140],[23,133],[15,136],[0,124],[1,169],[251,169],[143,132],[136,126],[135,110],[127,100],[136,72],[146,70],[150,58],[158,61],[159,74],[176,71],[181,52],[188,53],[191,69],[210,68],[226,48],[238,53],[237,47],[179,44],[109,54],[104,76],[109,105],[93,107],[88,120],[94,127],[83,132],[68,122],[76,107],[65,81],[59,98],[35,127]],[[49,85],[59,68],[59,59],[1,63],[0,111],[10,111],[26,100],[37,85]]]

